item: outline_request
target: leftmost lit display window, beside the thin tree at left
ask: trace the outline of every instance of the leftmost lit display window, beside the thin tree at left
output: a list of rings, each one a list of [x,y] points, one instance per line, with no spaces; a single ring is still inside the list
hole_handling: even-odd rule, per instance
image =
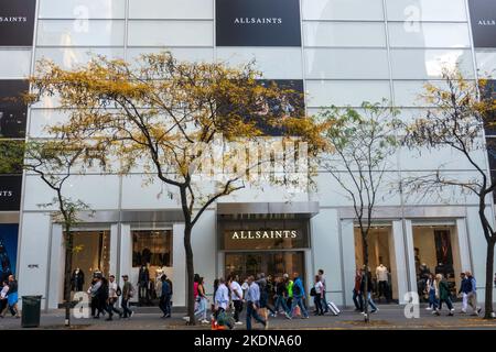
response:
[[[71,292],[86,292],[95,273],[109,275],[110,231],[73,232]]]

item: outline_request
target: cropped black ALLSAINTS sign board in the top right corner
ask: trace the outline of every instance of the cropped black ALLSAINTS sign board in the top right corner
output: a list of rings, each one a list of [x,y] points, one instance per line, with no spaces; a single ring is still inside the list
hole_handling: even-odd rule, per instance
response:
[[[496,47],[496,1],[468,0],[475,47]]]

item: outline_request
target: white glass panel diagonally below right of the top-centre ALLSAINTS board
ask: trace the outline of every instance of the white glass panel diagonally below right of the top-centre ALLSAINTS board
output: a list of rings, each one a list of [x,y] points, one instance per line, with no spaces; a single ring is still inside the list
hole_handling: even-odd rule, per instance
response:
[[[388,79],[386,50],[306,48],[306,78]]]

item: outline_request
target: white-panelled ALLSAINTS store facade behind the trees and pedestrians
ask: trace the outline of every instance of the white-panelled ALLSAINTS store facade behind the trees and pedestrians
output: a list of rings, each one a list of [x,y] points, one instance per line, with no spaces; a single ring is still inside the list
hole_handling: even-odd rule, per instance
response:
[[[10,31],[0,35],[0,94],[7,90],[7,96],[18,95],[9,87],[22,85],[43,57],[73,68],[95,54],[133,61],[168,50],[193,62],[239,65],[255,58],[265,79],[302,87],[310,114],[325,106],[359,108],[363,101],[386,98],[410,121],[429,108],[418,95],[427,81],[440,81],[444,65],[460,65],[471,79],[496,68],[496,43],[475,36],[496,37],[496,6],[483,0],[22,0],[22,9],[9,8],[11,2],[0,1],[7,13],[0,13],[0,31]],[[488,8],[481,14],[474,10],[479,7]],[[33,25],[24,26],[30,21]],[[46,98],[25,108],[23,132],[2,136],[50,138],[44,128],[65,119],[56,105],[55,98]],[[484,153],[474,157],[488,169],[494,165]],[[439,167],[475,175],[451,150],[398,148],[391,163],[391,184],[395,177]],[[184,306],[179,204],[159,183],[145,179],[142,169],[128,176],[89,169],[71,178],[68,196],[95,211],[76,229],[79,251],[72,264],[86,274],[86,290],[96,270],[129,274],[136,284],[147,263],[151,280],[161,271],[172,278],[174,305]],[[7,237],[10,227],[14,233],[9,241],[15,242],[10,251],[15,252],[11,256],[21,295],[42,295],[45,308],[56,308],[63,298],[62,228],[39,206],[54,195],[35,175],[2,175],[0,183],[0,193],[11,195],[0,197],[0,231]],[[363,257],[352,204],[326,172],[319,173],[316,185],[316,191],[298,195],[277,186],[248,187],[208,209],[192,239],[195,268],[207,292],[212,294],[215,277],[229,273],[299,272],[309,287],[323,268],[328,297],[353,305],[355,270]],[[14,204],[4,206],[7,201]],[[402,302],[407,292],[418,289],[421,264],[448,274],[454,288],[460,271],[470,270],[484,297],[486,242],[477,211],[477,199],[457,190],[411,197],[389,186],[370,235],[373,274],[386,266],[392,298]]]

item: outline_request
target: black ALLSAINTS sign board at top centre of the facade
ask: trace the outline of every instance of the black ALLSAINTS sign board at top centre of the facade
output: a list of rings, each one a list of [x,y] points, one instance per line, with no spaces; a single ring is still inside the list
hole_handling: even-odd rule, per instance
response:
[[[217,46],[301,46],[300,0],[217,0]]]

